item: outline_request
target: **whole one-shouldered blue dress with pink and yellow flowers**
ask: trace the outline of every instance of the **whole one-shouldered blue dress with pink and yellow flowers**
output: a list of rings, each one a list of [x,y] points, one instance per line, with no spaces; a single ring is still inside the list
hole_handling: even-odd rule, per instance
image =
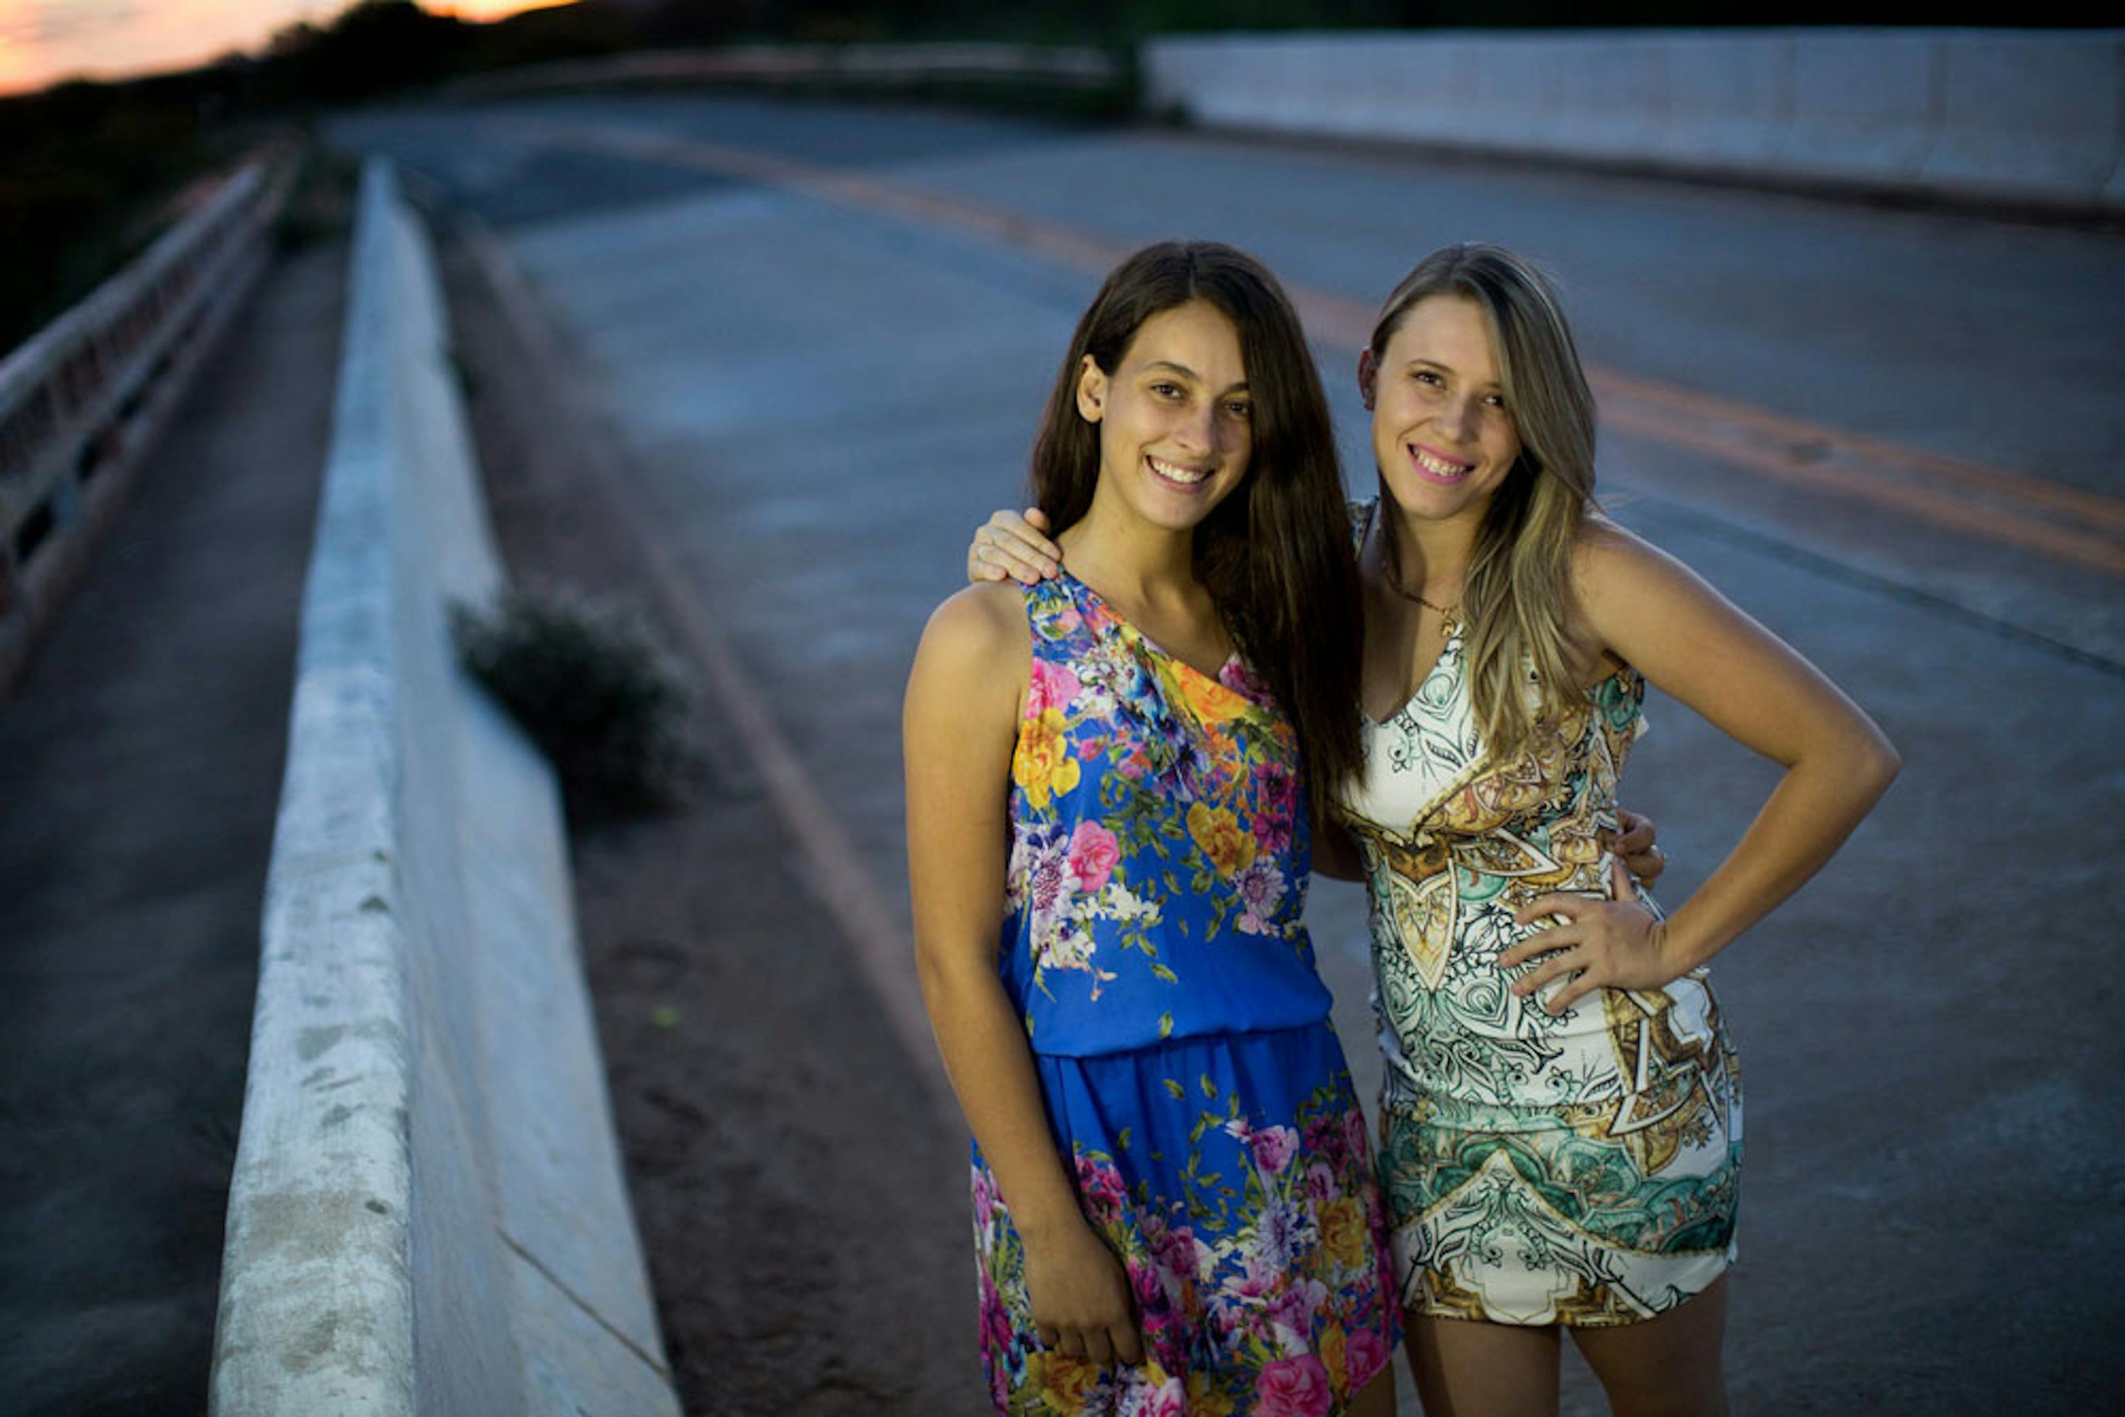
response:
[[[1398,1338],[1366,1126],[1313,969],[1298,746],[1235,654],[1173,659],[1067,571],[1026,591],[999,971],[1141,1366],[1046,1353],[973,1156],[999,1413],[1322,1417]]]

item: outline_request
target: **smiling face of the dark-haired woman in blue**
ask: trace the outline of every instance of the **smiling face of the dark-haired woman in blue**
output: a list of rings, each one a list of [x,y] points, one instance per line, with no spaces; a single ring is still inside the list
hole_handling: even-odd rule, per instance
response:
[[[1152,527],[1186,531],[1247,474],[1254,404],[1239,331],[1190,300],[1145,319],[1116,370],[1090,355],[1077,412],[1099,425],[1099,491]]]

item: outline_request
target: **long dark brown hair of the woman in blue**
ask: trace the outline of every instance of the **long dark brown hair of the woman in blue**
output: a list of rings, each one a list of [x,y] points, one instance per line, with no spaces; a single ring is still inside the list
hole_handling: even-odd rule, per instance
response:
[[[1033,499],[1054,533],[1099,486],[1099,427],[1077,412],[1090,355],[1122,368],[1143,321],[1203,300],[1239,331],[1254,399],[1247,474],[1194,531],[1194,571],[1298,729],[1315,820],[1364,763],[1360,599],[1328,399],[1277,278],[1220,242],[1158,242],[1114,268],[1077,321],[1033,442]]]

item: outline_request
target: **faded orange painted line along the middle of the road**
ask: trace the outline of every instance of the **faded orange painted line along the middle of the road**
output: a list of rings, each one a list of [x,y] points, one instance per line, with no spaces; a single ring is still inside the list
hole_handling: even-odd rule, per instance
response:
[[[1090,274],[1105,274],[1135,249],[1130,242],[1037,217],[754,149],[635,127],[536,119],[487,119],[482,127],[506,142],[529,140],[756,181],[867,212],[965,232]],[[1318,342],[1354,355],[1368,340],[1373,306],[1298,285],[1286,285],[1286,293]],[[1602,419],[1613,429],[1794,486],[1872,501],[1966,535],[2125,578],[2125,499],[1789,419],[1600,365],[1590,365],[1587,378],[1600,397]]]

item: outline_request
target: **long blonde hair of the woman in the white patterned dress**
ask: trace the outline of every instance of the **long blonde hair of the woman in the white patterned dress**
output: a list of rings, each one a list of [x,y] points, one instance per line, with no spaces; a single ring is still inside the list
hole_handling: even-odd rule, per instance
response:
[[[1473,300],[1498,351],[1519,461],[1498,484],[1462,580],[1468,693],[1492,754],[1526,750],[1545,718],[1583,705],[1572,635],[1572,548],[1594,503],[1594,391],[1549,278],[1504,246],[1464,242],[1424,257],[1388,295],[1373,361],[1417,302]],[[1386,478],[1379,495],[1392,503]],[[1390,574],[1400,576],[1398,520],[1386,520]],[[1534,678],[1530,682],[1528,671]]]

